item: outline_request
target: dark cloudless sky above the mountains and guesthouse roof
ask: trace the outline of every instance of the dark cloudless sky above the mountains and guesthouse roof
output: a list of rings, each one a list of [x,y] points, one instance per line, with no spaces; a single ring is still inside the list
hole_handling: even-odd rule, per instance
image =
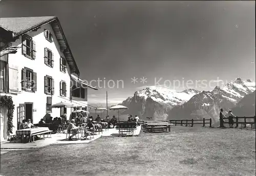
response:
[[[121,101],[161,77],[255,80],[254,1],[2,1],[0,15],[57,16],[81,79],[123,80],[123,88],[90,90],[89,103],[105,102],[106,90]]]

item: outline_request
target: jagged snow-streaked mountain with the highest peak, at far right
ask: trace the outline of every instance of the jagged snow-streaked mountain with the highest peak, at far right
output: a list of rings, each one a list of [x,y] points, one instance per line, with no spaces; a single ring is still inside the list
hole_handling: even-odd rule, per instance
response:
[[[168,113],[168,119],[202,119],[212,118],[213,122],[219,122],[219,111],[224,111],[236,106],[247,94],[255,90],[255,83],[251,80],[243,81],[241,78],[227,83],[222,87],[215,87],[212,91],[202,91],[188,102],[176,106]]]

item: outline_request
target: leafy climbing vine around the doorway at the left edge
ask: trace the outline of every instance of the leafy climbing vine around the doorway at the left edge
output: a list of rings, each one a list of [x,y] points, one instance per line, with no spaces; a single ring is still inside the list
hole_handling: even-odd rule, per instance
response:
[[[8,117],[8,119],[7,119],[7,133],[9,135],[10,133],[12,133],[12,128],[14,127],[13,123],[12,123],[13,112],[14,112],[14,105],[13,105],[12,97],[7,96],[7,95],[1,96],[0,104],[1,104],[1,108],[7,107],[7,117]]]

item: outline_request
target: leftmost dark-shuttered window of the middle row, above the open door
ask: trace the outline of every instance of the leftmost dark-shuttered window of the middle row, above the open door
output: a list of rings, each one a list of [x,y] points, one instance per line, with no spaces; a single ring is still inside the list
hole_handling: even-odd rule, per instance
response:
[[[28,92],[35,92],[37,90],[36,72],[27,67],[22,69],[22,90]]]

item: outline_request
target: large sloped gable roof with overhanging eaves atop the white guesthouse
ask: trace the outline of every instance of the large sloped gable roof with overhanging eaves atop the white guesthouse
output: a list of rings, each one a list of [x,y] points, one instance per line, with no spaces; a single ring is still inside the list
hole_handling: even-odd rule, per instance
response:
[[[71,69],[71,73],[79,75],[79,69],[72,55],[66,36],[61,28],[60,22],[56,16],[0,18],[0,26],[7,31],[11,31],[14,39],[31,30],[37,29],[46,23],[51,24],[59,43],[60,51],[64,54]]]

